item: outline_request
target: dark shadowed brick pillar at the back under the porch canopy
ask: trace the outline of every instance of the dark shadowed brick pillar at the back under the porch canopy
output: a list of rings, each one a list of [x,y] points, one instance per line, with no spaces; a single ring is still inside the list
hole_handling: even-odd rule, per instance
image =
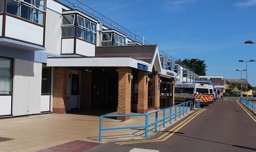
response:
[[[81,109],[91,108],[92,74],[89,71],[81,72]]]

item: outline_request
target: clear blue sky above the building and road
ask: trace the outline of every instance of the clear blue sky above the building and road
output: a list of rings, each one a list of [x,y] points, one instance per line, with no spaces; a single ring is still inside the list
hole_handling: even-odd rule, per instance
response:
[[[79,0],[175,59],[197,58],[206,76],[256,87],[256,0]],[[236,71],[246,70],[246,71]],[[242,76],[241,76],[242,74]]]

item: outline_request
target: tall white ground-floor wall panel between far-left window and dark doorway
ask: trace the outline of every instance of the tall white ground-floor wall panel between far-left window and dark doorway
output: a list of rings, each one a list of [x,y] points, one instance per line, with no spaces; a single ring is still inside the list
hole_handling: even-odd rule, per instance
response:
[[[21,59],[13,64],[13,116],[40,113],[42,64]]]

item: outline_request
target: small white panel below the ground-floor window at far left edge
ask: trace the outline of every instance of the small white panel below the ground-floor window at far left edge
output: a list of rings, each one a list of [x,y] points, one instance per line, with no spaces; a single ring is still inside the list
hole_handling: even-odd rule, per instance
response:
[[[11,115],[12,110],[12,96],[1,95],[0,96],[0,116]]]

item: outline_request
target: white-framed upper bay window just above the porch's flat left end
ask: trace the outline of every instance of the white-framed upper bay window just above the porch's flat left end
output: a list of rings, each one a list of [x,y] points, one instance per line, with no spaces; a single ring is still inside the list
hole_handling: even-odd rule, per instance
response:
[[[95,43],[96,23],[77,15],[77,25],[75,25],[75,14],[63,15],[62,17],[62,37],[76,37]]]

